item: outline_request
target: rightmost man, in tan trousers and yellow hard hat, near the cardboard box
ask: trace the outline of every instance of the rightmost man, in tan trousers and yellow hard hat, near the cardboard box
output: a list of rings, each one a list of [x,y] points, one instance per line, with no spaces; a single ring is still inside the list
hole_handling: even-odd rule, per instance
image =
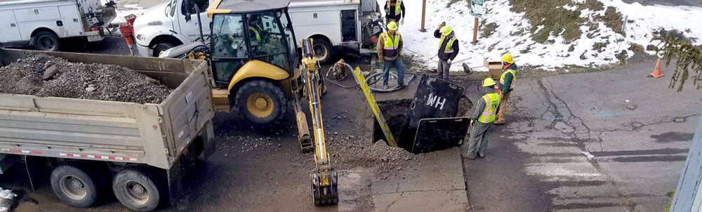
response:
[[[515,89],[515,79],[517,79],[517,75],[515,74],[517,65],[515,64],[515,59],[512,58],[512,54],[505,53],[505,55],[502,55],[502,65],[502,76],[500,77],[500,112],[497,114],[497,120],[495,121],[497,125],[505,124],[507,121],[507,105],[510,100],[510,93]]]

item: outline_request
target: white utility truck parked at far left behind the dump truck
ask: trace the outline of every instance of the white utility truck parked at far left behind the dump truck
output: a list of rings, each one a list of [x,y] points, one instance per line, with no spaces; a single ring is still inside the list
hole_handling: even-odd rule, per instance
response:
[[[4,0],[0,44],[58,51],[63,38],[102,41],[103,29],[115,16],[114,7],[103,6],[100,0]]]

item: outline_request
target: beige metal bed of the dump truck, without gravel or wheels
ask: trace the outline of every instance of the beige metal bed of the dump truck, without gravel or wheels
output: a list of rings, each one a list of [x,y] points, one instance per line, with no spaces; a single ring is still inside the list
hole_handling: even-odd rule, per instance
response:
[[[0,154],[168,169],[195,138],[212,137],[214,111],[204,61],[0,48],[0,65],[36,53],[70,62],[127,67],[174,90],[160,104],[0,93]]]

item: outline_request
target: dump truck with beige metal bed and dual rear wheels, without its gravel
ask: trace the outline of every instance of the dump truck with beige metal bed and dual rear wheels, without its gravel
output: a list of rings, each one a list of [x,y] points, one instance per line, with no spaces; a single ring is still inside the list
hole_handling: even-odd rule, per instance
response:
[[[173,92],[159,104],[0,93],[0,174],[24,164],[35,187],[51,170],[56,196],[76,207],[109,190],[135,211],[175,204],[185,173],[215,148],[207,63],[0,48],[0,65],[37,53],[133,69]]]

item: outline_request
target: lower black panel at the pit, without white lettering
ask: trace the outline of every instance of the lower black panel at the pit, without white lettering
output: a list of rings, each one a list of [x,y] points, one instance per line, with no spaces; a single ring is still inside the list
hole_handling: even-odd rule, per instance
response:
[[[469,117],[421,119],[411,152],[424,153],[457,147],[468,133]]]

